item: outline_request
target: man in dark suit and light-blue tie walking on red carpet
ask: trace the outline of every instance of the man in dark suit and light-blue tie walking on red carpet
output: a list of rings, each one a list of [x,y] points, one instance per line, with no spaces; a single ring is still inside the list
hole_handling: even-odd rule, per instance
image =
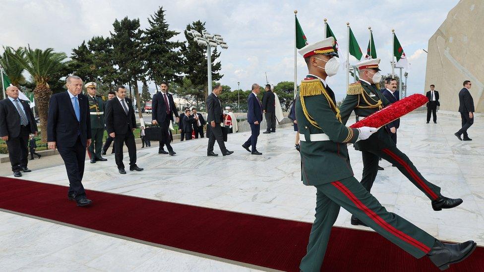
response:
[[[47,141],[49,149],[59,150],[64,161],[69,190],[67,199],[75,200],[77,206],[91,204],[86,198],[82,176],[86,148],[91,144],[91,120],[89,103],[82,93],[82,79],[68,76],[67,91],[51,96],[47,120]]]

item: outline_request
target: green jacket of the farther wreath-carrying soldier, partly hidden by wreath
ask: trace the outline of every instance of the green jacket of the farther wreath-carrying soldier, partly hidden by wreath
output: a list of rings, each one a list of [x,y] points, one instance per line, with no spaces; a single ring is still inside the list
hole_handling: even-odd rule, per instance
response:
[[[357,81],[348,88],[347,96],[340,106],[341,120],[346,124],[352,111],[358,116],[366,117],[391,103],[385,98],[380,91],[379,84],[368,84],[364,81]],[[367,144],[377,144],[380,134],[387,133],[382,126],[376,133],[373,133],[368,139],[359,141],[355,144],[356,150],[362,150],[360,146]]]

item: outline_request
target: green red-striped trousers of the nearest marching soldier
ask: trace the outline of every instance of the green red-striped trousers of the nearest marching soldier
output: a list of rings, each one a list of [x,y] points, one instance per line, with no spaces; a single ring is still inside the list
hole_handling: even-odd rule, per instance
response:
[[[303,272],[321,270],[331,227],[340,207],[416,258],[424,257],[435,244],[436,240],[430,234],[404,218],[387,212],[353,176],[315,187],[316,214],[307,253],[299,267]],[[375,255],[375,261],[377,258]]]

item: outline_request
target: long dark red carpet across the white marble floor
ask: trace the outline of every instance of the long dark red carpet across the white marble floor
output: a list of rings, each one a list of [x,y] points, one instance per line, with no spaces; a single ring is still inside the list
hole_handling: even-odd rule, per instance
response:
[[[64,186],[0,178],[0,209],[283,271],[298,271],[310,223],[87,191],[76,207]],[[333,227],[323,271],[438,271],[370,231]],[[484,249],[448,271],[484,271]]]

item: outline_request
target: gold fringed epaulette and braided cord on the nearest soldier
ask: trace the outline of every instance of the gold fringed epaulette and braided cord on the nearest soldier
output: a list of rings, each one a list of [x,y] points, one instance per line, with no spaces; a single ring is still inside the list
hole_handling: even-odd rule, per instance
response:
[[[311,123],[313,126],[321,129],[321,127],[318,125],[316,120],[309,115],[309,112],[307,112],[306,105],[304,103],[304,97],[306,96],[316,96],[316,95],[323,95],[326,100],[329,103],[329,106],[333,111],[336,112],[336,119],[338,119],[341,122],[341,114],[340,110],[336,105],[333,103],[333,100],[331,97],[328,95],[328,92],[326,92],[326,89],[324,89],[324,86],[319,79],[310,79],[310,80],[303,80],[301,82],[301,85],[299,87],[299,96],[301,100],[301,106],[303,108],[304,116],[306,119]]]

